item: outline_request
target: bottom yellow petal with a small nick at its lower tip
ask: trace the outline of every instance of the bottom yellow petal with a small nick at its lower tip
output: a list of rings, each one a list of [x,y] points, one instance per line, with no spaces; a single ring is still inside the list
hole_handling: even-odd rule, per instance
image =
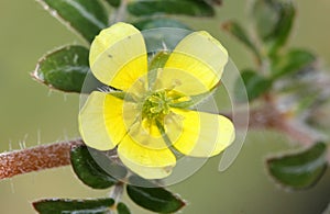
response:
[[[162,179],[170,174],[176,158],[168,148],[150,149],[136,144],[129,135],[118,146],[121,161],[145,179]]]

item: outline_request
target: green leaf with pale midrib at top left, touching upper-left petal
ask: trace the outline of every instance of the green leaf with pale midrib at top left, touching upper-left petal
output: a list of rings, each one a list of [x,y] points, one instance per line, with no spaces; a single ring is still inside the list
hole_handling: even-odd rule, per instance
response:
[[[88,42],[108,25],[108,14],[98,0],[38,0],[38,2]]]

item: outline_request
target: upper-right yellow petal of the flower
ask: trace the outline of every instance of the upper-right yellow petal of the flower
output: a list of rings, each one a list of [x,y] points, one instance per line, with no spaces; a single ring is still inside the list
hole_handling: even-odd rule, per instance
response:
[[[186,36],[175,47],[165,68],[173,68],[190,74],[195,82],[201,82],[207,90],[212,89],[220,80],[223,68],[228,61],[228,53],[219,41],[207,32],[195,32]],[[167,78],[176,76],[172,74]],[[166,76],[164,76],[166,78]],[[177,76],[176,79],[184,76]],[[182,80],[182,91],[193,90],[190,85],[186,85],[186,79]],[[206,92],[202,88],[195,89],[194,93]],[[191,94],[191,93],[189,93]]]

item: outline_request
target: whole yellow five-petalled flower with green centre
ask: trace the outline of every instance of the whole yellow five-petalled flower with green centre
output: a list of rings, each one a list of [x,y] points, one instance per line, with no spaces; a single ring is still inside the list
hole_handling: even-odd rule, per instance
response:
[[[177,151],[218,155],[233,142],[233,124],[188,105],[217,87],[227,61],[226,48],[207,32],[194,32],[170,54],[148,60],[134,26],[117,23],[101,31],[90,47],[91,71],[119,92],[88,97],[79,113],[82,139],[99,150],[117,147],[121,161],[145,179],[169,176]]]

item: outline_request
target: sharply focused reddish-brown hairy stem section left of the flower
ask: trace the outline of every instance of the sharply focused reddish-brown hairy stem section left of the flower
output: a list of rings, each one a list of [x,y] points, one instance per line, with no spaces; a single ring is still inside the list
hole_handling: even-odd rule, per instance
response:
[[[81,139],[76,139],[0,154],[0,179],[67,166],[70,148],[81,144]]]

